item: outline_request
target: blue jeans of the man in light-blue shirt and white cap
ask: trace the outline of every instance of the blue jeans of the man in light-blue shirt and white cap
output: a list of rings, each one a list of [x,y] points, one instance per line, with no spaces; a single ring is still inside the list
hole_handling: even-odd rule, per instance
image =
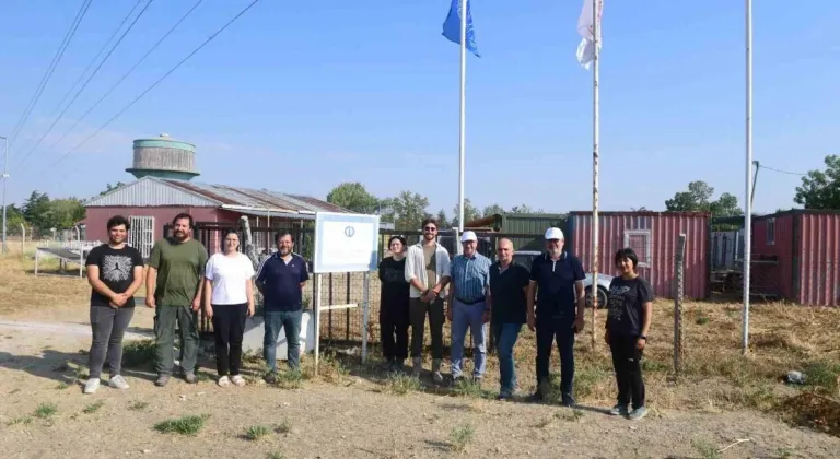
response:
[[[455,299],[452,302],[452,377],[460,376],[460,365],[464,360],[464,339],[467,328],[472,333],[472,376],[480,378],[485,374],[487,345],[485,343],[485,302],[466,305]]]

